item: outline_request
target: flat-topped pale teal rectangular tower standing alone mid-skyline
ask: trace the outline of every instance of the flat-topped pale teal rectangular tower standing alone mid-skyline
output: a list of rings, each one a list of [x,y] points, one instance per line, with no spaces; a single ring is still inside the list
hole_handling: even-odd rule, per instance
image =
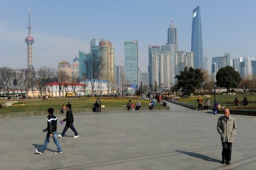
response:
[[[138,41],[124,41],[124,77],[127,83],[138,85]]]

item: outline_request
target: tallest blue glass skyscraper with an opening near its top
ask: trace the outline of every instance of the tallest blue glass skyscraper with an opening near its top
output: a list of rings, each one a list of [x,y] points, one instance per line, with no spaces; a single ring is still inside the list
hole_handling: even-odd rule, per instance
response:
[[[194,68],[203,69],[202,29],[201,29],[201,16],[200,16],[199,6],[193,9],[191,52],[194,52]]]

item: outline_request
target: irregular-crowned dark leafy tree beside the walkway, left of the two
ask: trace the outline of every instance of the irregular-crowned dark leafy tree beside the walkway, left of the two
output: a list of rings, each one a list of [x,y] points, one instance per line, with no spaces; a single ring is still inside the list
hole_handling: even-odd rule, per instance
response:
[[[184,71],[180,71],[180,75],[176,75],[177,79],[176,87],[185,95],[191,95],[195,89],[200,88],[200,84],[203,82],[203,73],[200,69],[194,69],[190,67],[184,68]]]

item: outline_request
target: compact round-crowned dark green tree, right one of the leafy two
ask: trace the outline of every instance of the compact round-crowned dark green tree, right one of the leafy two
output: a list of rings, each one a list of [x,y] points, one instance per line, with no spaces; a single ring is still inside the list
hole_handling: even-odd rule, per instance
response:
[[[231,66],[220,68],[216,74],[216,85],[226,87],[226,92],[229,92],[229,88],[236,88],[240,81],[240,74]]]

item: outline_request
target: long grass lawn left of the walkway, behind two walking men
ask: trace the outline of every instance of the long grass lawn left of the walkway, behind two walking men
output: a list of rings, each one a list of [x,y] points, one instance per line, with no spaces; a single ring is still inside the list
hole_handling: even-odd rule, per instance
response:
[[[132,103],[136,103],[139,100],[137,97],[117,97],[117,98],[107,98],[102,97],[100,101],[105,107],[126,107],[128,100],[131,100]],[[3,105],[8,100],[0,100],[0,104]],[[16,100],[17,101],[17,100]],[[25,99],[18,100],[19,102],[25,103],[26,106],[18,107],[2,107],[0,113],[11,113],[11,112],[25,112],[25,111],[42,111],[47,110],[48,108],[53,108],[55,110],[60,110],[62,104],[66,105],[69,101],[72,104],[72,108],[92,108],[93,104],[96,101],[96,98],[93,97],[78,97],[75,99],[65,99],[65,98],[49,98],[48,100],[39,100],[39,99]],[[148,100],[141,99],[141,106],[148,107]]]

